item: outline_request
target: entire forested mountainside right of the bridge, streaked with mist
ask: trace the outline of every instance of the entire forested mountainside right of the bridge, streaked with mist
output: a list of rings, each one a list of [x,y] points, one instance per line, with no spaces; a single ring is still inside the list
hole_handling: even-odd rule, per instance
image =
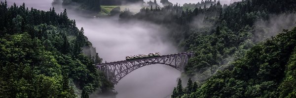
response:
[[[270,37],[265,36],[269,28],[256,25],[273,15],[294,14],[295,8],[295,0],[242,0],[229,6],[217,1],[186,11],[177,4],[142,8],[120,18],[161,25],[181,47],[195,51],[185,74],[200,86],[190,92],[190,86],[178,85],[172,98],[295,98],[296,28],[260,42]]]

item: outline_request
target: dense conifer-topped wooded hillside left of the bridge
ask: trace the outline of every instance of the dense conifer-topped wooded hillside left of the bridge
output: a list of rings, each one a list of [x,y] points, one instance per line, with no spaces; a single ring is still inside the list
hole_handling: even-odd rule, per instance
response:
[[[92,64],[98,54],[66,10],[40,11],[0,3],[0,98],[82,98],[113,85]],[[94,49],[95,50],[95,49]]]

